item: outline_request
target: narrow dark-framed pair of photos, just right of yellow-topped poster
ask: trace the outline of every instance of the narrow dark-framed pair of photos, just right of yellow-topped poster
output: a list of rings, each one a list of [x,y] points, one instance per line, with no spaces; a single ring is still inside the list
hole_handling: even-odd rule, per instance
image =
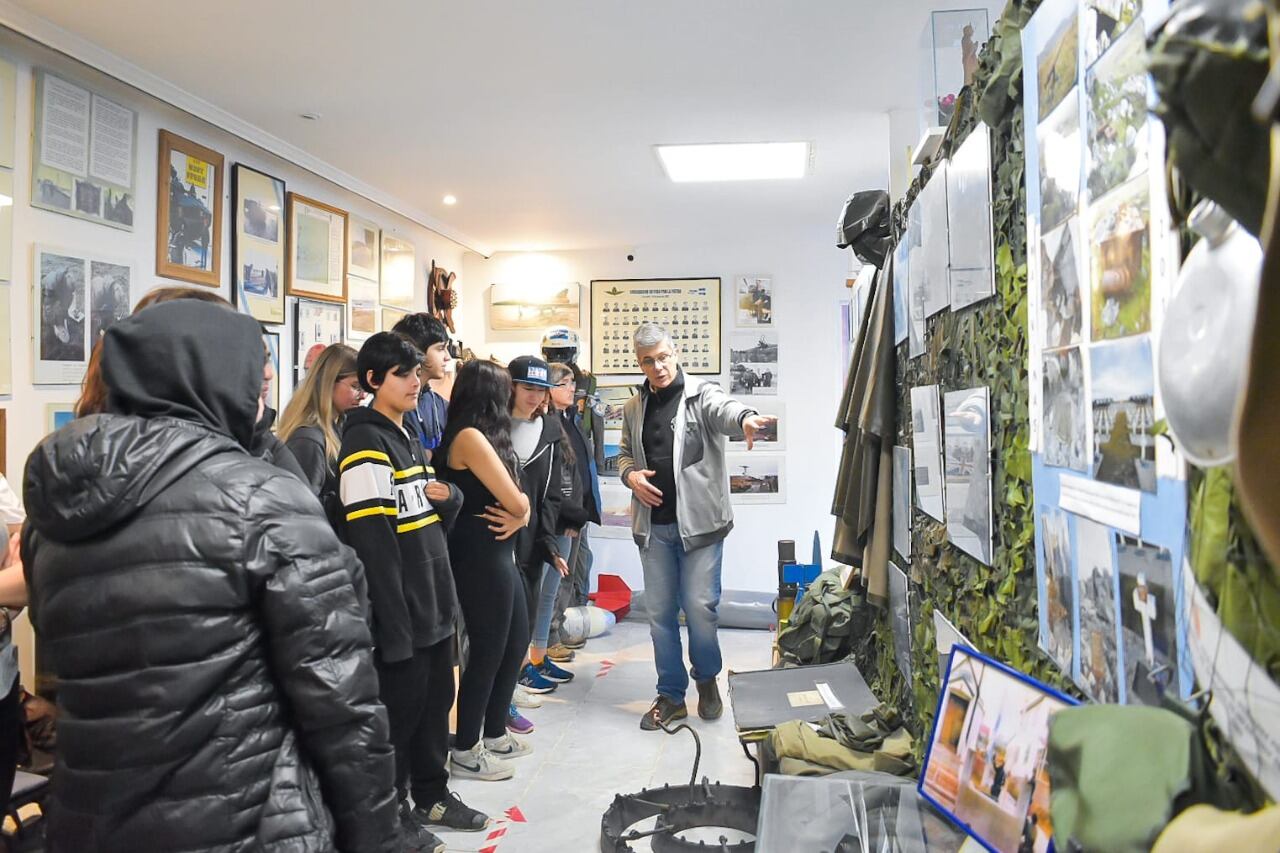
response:
[[[259,323],[284,323],[284,182],[232,167],[232,293]]]

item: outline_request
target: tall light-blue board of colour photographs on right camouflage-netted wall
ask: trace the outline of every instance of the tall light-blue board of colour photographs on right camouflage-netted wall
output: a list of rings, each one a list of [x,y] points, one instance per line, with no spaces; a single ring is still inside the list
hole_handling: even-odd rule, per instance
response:
[[[1153,377],[1178,246],[1144,40],[1167,8],[1044,0],[1023,29],[1039,640],[1108,702],[1192,688],[1187,484]]]

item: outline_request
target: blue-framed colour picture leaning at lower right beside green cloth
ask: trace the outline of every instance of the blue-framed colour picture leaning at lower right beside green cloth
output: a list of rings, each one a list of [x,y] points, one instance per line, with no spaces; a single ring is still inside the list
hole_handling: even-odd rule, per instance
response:
[[[1055,713],[1073,704],[1075,699],[998,661],[954,647],[920,794],[989,850],[1050,849],[1048,727]]]

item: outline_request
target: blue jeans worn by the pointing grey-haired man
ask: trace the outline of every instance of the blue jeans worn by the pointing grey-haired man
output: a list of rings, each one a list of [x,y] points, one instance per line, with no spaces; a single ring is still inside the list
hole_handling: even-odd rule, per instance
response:
[[[719,624],[721,561],[724,543],[685,551],[680,528],[655,524],[649,532],[649,547],[640,549],[644,566],[644,599],[649,611],[649,635],[658,666],[658,693],[685,701],[689,675],[680,644],[680,611],[689,629],[689,662],[695,681],[707,681],[721,671]]]

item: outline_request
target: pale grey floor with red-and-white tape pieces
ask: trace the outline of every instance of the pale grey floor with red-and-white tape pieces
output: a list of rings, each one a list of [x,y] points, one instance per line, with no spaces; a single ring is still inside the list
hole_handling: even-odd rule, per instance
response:
[[[721,630],[726,670],[769,666],[771,634]],[[613,666],[602,675],[604,661]],[[453,790],[472,808],[495,820],[520,809],[526,822],[507,821],[485,833],[442,833],[449,850],[475,852],[497,845],[500,853],[590,853],[599,850],[600,817],[614,794],[630,794],[663,783],[684,785],[692,770],[694,740],[687,733],[641,731],[643,715],[655,695],[653,646],[645,622],[623,621],[590,640],[568,665],[575,679],[543,697],[543,707],[524,711],[536,730],[534,752],[517,758],[516,776],[500,783],[458,780]],[[703,742],[699,779],[750,785],[755,768],[733,733],[724,674],[719,676],[724,716],[698,719],[690,688],[689,722]],[[492,834],[506,833],[489,838]],[[636,849],[648,849],[637,845]]]

